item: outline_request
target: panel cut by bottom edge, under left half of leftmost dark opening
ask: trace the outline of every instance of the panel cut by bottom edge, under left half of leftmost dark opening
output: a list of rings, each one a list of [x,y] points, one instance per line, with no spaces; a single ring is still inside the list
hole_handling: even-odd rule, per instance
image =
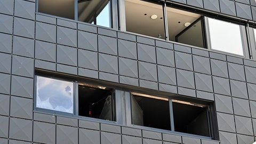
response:
[[[100,144],[100,132],[87,129],[79,129],[79,143]]]

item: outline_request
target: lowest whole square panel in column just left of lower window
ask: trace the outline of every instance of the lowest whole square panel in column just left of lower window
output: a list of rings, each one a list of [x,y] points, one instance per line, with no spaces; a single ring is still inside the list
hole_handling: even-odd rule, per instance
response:
[[[32,141],[32,129],[32,121],[20,118],[10,118],[10,138]]]

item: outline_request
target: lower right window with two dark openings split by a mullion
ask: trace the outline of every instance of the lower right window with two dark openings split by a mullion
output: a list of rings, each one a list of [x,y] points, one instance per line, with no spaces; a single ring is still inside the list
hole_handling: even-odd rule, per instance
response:
[[[131,93],[132,124],[213,137],[210,103]]]

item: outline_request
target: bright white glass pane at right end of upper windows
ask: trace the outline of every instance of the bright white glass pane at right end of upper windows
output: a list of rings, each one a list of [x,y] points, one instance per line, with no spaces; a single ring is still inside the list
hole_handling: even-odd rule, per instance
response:
[[[212,18],[208,22],[211,49],[244,55],[239,25]]]

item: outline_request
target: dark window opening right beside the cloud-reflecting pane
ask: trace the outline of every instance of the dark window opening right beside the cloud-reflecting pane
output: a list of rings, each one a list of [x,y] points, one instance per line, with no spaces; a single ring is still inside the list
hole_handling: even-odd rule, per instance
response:
[[[113,90],[98,87],[78,85],[78,115],[115,121]]]

